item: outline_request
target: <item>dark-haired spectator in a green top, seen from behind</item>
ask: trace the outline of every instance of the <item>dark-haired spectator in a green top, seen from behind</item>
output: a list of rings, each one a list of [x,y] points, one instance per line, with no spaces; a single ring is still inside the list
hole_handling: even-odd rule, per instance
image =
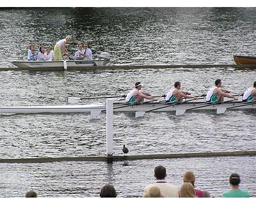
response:
[[[239,189],[240,176],[237,173],[232,173],[229,177],[230,190],[222,194],[223,198],[249,198],[247,191]]]

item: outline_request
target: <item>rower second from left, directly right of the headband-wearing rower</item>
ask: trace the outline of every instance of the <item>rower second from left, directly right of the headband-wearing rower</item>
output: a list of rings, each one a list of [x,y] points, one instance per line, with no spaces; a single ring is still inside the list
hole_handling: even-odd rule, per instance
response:
[[[196,96],[192,96],[190,92],[182,91],[180,87],[181,87],[180,82],[174,83],[174,89],[170,89],[170,91],[166,94],[166,98],[165,98],[166,102],[180,103],[184,98],[198,99]]]

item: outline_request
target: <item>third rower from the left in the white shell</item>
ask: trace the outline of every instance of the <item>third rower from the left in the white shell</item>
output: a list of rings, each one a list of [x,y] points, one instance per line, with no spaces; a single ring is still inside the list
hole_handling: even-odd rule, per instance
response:
[[[236,98],[235,96],[231,96],[230,94],[228,94],[230,91],[228,91],[226,89],[222,89],[221,85],[222,85],[221,80],[217,79],[215,81],[215,87],[212,87],[207,92],[207,95],[206,95],[206,98],[205,98],[207,102],[223,103],[224,97],[233,98],[236,101],[238,100],[238,98]]]

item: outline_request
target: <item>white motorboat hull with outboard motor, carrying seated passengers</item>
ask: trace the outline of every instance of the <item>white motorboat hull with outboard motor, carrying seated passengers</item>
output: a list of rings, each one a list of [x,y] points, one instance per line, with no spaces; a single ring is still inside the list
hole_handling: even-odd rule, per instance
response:
[[[106,66],[110,59],[108,52],[102,52],[100,59],[95,60],[67,60],[67,61],[12,61],[12,64],[20,69],[76,69],[76,68],[92,68],[95,66]]]

